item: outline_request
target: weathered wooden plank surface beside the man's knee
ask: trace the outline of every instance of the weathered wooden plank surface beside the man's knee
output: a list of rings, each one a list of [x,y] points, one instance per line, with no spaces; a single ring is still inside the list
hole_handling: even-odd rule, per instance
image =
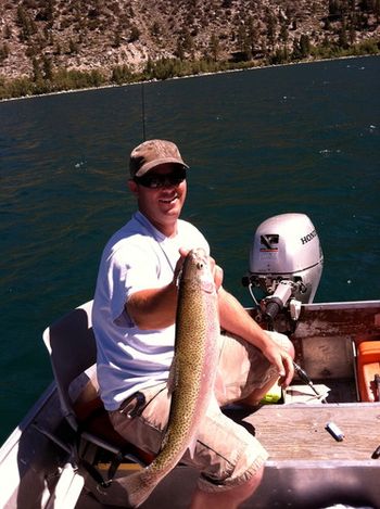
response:
[[[344,433],[342,442],[325,429],[331,421]],[[380,445],[379,404],[266,405],[240,422],[254,428],[269,460],[363,461]]]

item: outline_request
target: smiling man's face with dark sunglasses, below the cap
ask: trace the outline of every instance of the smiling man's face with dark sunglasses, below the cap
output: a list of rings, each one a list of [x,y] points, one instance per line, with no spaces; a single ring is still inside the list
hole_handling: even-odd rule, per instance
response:
[[[176,225],[185,203],[187,184],[185,179],[181,180],[183,171],[176,164],[164,164],[148,171],[140,180],[129,180],[129,189],[138,198],[140,212],[166,236],[175,233],[169,230]]]

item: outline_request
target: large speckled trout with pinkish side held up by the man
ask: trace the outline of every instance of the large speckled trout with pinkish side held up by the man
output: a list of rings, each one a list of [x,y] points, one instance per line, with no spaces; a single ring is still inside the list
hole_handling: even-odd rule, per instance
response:
[[[159,456],[126,480],[128,501],[139,507],[178,463],[197,433],[214,391],[219,319],[210,258],[190,251],[178,288],[175,355],[169,377],[169,420]]]

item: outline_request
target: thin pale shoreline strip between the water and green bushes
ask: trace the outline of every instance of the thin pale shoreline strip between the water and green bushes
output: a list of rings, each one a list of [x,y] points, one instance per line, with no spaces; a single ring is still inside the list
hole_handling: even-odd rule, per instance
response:
[[[218,74],[229,74],[229,73],[242,73],[242,72],[248,72],[248,71],[258,71],[258,69],[268,69],[273,67],[288,67],[291,65],[305,65],[305,64],[314,64],[314,63],[320,63],[320,62],[333,62],[337,60],[353,60],[353,59],[367,59],[370,56],[380,56],[380,53],[377,54],[362,54],[362,55],[346,55],[346,56],[337,56],[337,58],[329,58],[329,59],[307,59],[307,60],[302,60],[297,62],[288,62],[283,64],[265,64],[265,65],[253,65],[252,67],[244,67],[244,68],[231,68],[227,71],[215,71],[211,73],[200,73],[200,74],[191,74],[191,75],[186,75],[186,76],[174,76],[172,78],[167,79],[147,79],[143,81],[135,81],[135,82],[126,82],[126,84],[113,84],[113,85],[102,85],[100,87],[87,87],[87,88],[78,88],[78,89],[71,89],[71,90],[58,90],[54,92],[47,92],[47,93],[39,93],[35,96],[22,96],[18,98],[8,98],[8,99],[0,99],[0,104],[3,102],[10,102],[10,101],[22,101],[25,99],[38,99],[38,98],[45,98],[45,97],[50,97],[50,96],[59,96],[59,94],[65,94],[65,93],[79,93],[79,92],[88,92],[88,91],[93,91],[93,90],[106,90],[109,88],[119,88],[119,87],[128,87],[128,86],[135,86],[135,85],[144,85],[144,84],[152,84],[152,82],[159,82],[159,81],[172,81],[174,79],[189,79],[189,78],[201,78],[204,76],[214,76]]]

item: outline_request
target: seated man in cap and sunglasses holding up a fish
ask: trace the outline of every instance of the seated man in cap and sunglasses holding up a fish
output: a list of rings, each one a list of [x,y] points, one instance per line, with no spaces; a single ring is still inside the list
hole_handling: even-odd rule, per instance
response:
[[[104,249],[93,303],[101,397],[115,430],[157,454],[169,412],[166,382],[174,354],[176,280],[193,247],[210,247],[179,219],[187,193],[178,148],[165,140],[141,143],[130,154],[128,186],[138,212]],[[194,455],[183,462],[201,471],[192,509],[237,508],[258,486],[266,450],[219,409],[230,402],[256,404],[277,379],[293,377],[293,347],[264,332],[221,285],[212,259],[220,327],[220,360],[212,405],[200,427]],[[216,407],[216,408],[215,408]]]

